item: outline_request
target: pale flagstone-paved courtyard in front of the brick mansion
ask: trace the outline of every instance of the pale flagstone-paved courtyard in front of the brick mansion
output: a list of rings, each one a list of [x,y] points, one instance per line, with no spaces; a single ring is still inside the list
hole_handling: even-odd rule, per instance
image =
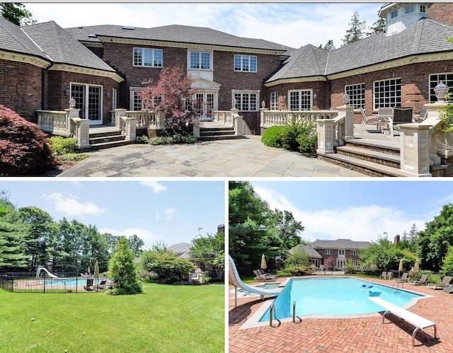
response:
[[[260,136],[188,145],[130,144],[88,153],[59,177],[366,177],[264,146]]]

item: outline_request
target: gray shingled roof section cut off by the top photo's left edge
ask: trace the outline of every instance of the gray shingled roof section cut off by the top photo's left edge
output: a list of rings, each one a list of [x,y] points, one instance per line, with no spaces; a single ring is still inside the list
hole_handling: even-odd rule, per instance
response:
[[[0,17],[0,50],[33,55],[49,60],[18,25],[2,17]]]

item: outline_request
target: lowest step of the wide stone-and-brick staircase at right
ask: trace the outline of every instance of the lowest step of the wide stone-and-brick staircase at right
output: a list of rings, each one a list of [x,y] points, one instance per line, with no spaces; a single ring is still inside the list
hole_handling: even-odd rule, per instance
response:
[[[366,161],[362,158],[353,156],[345,156],[342,154],[326,154],[319,155],[319,158],[323,161],[334,163],[338,166],[343,166],[356,170],[360,173],[367,174],[375,177],[408,177],[411,176],[409,173],[405,173],[399,168],[391,166],[384,166],[380,163],[372,161]]]

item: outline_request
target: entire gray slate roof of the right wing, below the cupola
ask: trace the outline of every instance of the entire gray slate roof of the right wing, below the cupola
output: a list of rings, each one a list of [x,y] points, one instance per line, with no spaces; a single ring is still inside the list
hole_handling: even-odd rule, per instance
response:
[[[453,37],[453,25],[422,18],[401,33],[390,36],[378,33],[331,52],[305,45],[294,51],[282,69],[266,83],[278,79],[328,76],[417,54],[452,52],[453,45],[446,40],[447,37]]]

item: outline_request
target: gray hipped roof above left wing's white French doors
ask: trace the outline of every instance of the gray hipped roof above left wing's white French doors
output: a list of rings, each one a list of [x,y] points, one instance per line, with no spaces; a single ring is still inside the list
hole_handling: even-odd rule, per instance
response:
[[[57,64],[70,64],[74,66],[115,72],[102,59],[93,54],[91,50],[82,45],[66,30],[54,21],[27,25],[23,30],[49,55]]]

